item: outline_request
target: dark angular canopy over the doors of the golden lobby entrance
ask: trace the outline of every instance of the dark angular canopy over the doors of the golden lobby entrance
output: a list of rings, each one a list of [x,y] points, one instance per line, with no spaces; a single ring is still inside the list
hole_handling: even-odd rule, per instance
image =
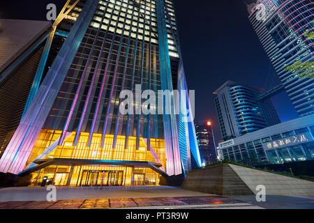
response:
[[[108,165],[119,167],[135,167],[135,168],[151,168],[162,176],[167,174],[159,169],[161,164],[146,161],[124,161],[124,160],[85,160],[85,159],[65,159],[65,158],[53,158],[34,161],[37,165],[20,172],[18,175],[24,176],[30,174],[38,169],[43,169],[50,165],[59,166],[91,166],[91,165]]]

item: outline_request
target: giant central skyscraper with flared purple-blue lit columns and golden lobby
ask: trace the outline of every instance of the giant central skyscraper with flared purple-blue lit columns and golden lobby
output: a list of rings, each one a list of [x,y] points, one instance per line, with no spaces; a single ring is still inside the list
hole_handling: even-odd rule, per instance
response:
[[[68,1],[59,17],[70,31],[54,26],[54,59],[0,171],[56,185],[158,185],[200,167],[172,1]],[[179,107],[159,94],[145,104],[149,90],[179,90]],[[126,106],[135,113],[121,112],[121,92],[135,94]]]

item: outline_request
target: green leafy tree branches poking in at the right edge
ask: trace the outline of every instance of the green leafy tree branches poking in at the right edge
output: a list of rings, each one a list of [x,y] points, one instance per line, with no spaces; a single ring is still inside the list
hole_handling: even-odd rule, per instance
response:
[[[314,20],[313,20],[314,24]],[[314,32],[307,32],[304,34],[304,36],[308,40],[314,39]],[[307,61],[302,63],[301,61],[295,61],[292,65],[287,66],[285,70],[290,72],[297,72],[299,75],[299,78],[314,78],[314,61]]]

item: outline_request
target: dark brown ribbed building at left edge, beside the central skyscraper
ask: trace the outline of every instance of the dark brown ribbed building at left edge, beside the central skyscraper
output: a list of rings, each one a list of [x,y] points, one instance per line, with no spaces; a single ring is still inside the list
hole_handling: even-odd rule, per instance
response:
[[[0,157],[20,123],[50,31],[50,22],[0,20]]]

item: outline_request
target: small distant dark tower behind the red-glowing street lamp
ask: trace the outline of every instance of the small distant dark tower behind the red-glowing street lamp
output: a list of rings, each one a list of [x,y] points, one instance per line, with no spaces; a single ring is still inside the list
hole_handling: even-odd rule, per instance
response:
[[[198,148],[203,166],[217,162],[216,145],[211,121],[204,121],[195,125]]]

